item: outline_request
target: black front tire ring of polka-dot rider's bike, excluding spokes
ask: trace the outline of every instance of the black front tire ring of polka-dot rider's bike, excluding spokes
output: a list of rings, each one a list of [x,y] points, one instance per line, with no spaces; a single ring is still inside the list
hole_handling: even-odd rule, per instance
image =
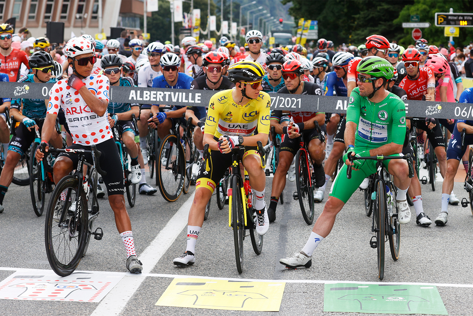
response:
[[[54,253],[53,250],[53,242],[51,240],[51,235],[53,232],[51,231],[53,227],[53,216],[54,216],[54,206],[55,202],[57,199],[61,199],[61,192],[63,190],[66,190],[67,188],[74,188],[75,190],[78,190],[79,188],[79,181],[71,175],[65,176],[62,178],[56,187],[54,188],[53,194],[51,196],[51,199],[49,200],[48,208],[46,211],[46,220],[45,220],[45,225],[44,225],[44,242],[46,246],[46,255],[48,257],[49,264],[51,265],[51,268],[53,271],[61,276],[65,277],[70,275],[72,272],[74,272],[79,265],[80,260],[82,259],[82,254],[84,252],[84,247],[86,244],[86,237],[88,234],[86,234],[86,229],[87,229],[87,222],[88,222],[88,216],[87,212],[82,212],[82,216],[80,217],[81,225],[79,225],[79,235],[78,235],[78,248],[76,253],[74,254],[72,260],[68,264],[62,264],[57,260],[56,254]],[[83,192],[82,190],[80,192]],[[87,206],[84,206],[84,200],[86,197],[84,196],[83,193],[81,193],[82,196],[82,208],[87,208]]]

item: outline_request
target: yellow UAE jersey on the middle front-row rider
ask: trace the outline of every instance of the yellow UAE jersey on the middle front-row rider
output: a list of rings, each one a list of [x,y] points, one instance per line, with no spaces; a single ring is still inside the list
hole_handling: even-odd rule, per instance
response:
[[[261,91],[257,99],[238,105],[233,100],[232,91],[222,90],[210,98],[204,133],[217,138],[221,135],[251,136],[258,128],[258,133],[269,134],[269,94]]]

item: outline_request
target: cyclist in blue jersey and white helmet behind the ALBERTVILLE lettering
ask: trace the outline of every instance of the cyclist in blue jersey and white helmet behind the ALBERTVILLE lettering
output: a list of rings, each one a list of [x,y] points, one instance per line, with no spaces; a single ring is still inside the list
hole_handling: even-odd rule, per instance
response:
[[[159,62],[163,74],[153,79],[153,88],[167,89],[191,89],[193,78],[184,72],[179,72],[181,61],[179,56],[174,53],[166,53],[161,56]],[[151,117],[149,126],[158,129],[158,136],[164,139],[169,134],[169,129],[175,125],[175,120],[180,121],[180,125],[185,126],[187,122],[184,119],[186,106],[174,106],[171,111],[159,112],[159,105],[151,106],[151,113],[156,116]]]

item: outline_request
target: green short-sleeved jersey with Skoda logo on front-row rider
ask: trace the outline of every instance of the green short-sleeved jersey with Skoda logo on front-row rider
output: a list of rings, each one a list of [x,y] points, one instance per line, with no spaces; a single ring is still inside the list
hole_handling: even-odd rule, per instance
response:
[[[359,95],[359,88],[351,91],[347,107],[347,122],[358,124],[355,148],[367,150],[384,144],[403,144],[406,135],[406,107],[403,100],[389,93],[381,102],[374,103]]]

